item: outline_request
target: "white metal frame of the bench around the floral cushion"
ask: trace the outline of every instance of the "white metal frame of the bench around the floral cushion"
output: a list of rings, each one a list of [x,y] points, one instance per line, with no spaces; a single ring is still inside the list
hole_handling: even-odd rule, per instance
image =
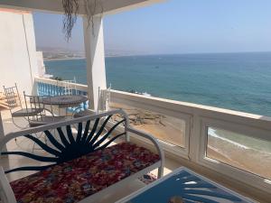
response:
[[[30,129],[25,129],[19,132],[11,133],[5,135],[4,138],[0,140],[0,153],[3,156],[2,153],[5,154],[5,144],[8,143],[9,141],[13,140],[16,137],[19,136],[24,136],[25,134],[37,134],[41,133],[44,131],[49,131],[49,130],[54,130],[59,127],[67,126],[67,125],[77,125],[79,123],[83,123],[89,120],[95,120],[97,118],[102,118],[105,116],[109,115],[122,115],[124,117],[124,135],[125,135],[125,142],[130,142],[129,134],[135,134],[136,136],[143,137],[147,140],[149,140],[151,143],[154,144],[154,148],[158,152],[160,156],[160,161],[155,162],[154,164],[150,165],[149,167],[145,168],[142,171],[138,171],[135,174],[130,175],[129,177],[126,177],[124,180],[119,180],[117,183],[107,187],[106,189],[102,189],[93,195],[89,196],[88,198],[84,198],[79,201],[79,203],[87,203],[87,202],[95,202],[99,198],[104,197],[107,194],[110,194],[111,192],[116,191],[116,189],[122,188],[124,185],[128,184],[130,181],[135,180],[144,174],[148,173],[149,171],[153,171],[154,169],[158,168],[158,178],[161,178],[164,173],[164,152],[157,142],[157,140],[152,136],[151,134],[146,134],[142,131],[135,130],[134,128],[129,126],[128,122],[128,115],[126,115],[126,112],[123,111],[122,109],[118,110],[112,110],[108,111],[106,113],[101,113],[97,115],[89,115],[89,116],[84,116],[84,117],[79,117],[76,119],[72,119],[69,121],[65,122],[59,122],[59,123],[54,123],[51,125],[42,125],[39,127],[33,127]],[[108,122],[109,123],[109,122]],[[117,126],[119,127],[119,126]],[[8,153],[8,152],[6,152]],[[2,157],[1,156],[1,157]],[[14,197],[14,192],[13,189],[11,188],[9,181],[6,178],[5,171],[3,167],[0,165],[0,198],[2,199],[3,203],[16,203],[16,199]]]

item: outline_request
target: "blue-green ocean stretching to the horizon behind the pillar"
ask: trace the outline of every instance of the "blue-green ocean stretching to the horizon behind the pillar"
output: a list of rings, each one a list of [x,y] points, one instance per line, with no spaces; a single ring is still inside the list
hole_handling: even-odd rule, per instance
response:
[[[54,77],[86,84],[86,60],[45,61]],[[271,116],[271,52],[106,58],[107,85],[195,104]]]

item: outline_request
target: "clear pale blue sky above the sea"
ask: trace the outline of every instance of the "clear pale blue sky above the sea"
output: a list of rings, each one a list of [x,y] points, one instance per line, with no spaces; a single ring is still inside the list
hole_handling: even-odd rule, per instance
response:
[[[168,0],[104,16],[106,50],[138,54],[271,51],[270,0]],[[33,14],[38,47],[83,51],[82,21],[65,42],[62,15]]]

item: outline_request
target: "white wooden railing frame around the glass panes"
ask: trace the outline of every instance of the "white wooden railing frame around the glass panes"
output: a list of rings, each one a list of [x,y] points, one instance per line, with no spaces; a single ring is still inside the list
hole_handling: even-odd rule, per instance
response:
[[[165,115],[172,115],[172,113],[170,113],[168,110],[173,111],[173,109],[175,109],[173,116],[181,119],[183,115],[187,115],[187,117],[191,119],[188,123],[190,124],[188,126],[190,127],[190,134],[186,134],[189,140],[188,158],[190,161],[205,166],[212,171],[217,171],[223,175],[226,175],[232,180],[239,180],[269,194],[271,193],[270,180],[265,180],[248,171],[240,170],[225,163],[212,161],[205,158],[207,139],[206,126],[219,126],[225,130],[271,141],[271,119],[269,117],[251,115],[211,106],[201,106],[191,103],[178,102],[163,98],[137,96],[135,94],[124,93],[116,90],[113,90],[111,95],[113,101],[115,100],[121,104],[131,104],[139,107],[148,106],[148,109],[154,110],[160,108],[158,112],[164,113]],[[207,125],[207,121],[211,122]],[[164,150],[167,150],[164,144],[161,145],[164,147]],[[173,149],[169,149],[168,152],[175,155]],[[179,155],[184,158],[181,150],[179,151]]]

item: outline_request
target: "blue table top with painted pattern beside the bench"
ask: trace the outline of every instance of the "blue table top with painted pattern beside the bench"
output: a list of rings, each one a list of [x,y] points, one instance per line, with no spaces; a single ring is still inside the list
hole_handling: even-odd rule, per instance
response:
[[[158,180],[159,181],[159,180]],[[248,203],[252,202],[238,193],[221,187],[192,171],[183,168],[139,193],[128,203]]]

